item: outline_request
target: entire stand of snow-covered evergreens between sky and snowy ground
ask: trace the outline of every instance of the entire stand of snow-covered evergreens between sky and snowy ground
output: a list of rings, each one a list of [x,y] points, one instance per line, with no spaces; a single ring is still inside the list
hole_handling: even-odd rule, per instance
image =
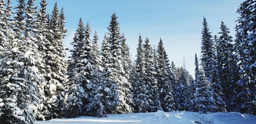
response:
[[[12,11],[0,0],[0,124],[157,110],[256,115],[255,0],[237,9],[236,37],[224,22],[213,36],[203,18],[195,78],[169,61],[161,38],[155,47],[138,34],[131,60],[116,13],[101,47],[80,18],[66,60],[64,9],[55,3],[50,15],[46,0],[17,2]]]

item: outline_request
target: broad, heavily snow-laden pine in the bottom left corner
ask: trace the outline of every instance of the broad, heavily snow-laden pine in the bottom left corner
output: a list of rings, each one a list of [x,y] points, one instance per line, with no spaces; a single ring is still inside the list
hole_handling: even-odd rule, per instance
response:
[[[32,124],[34,117],[30,105],[37,101],[36,83],[33,82],[38,79],[35,77],[37,68],[24,63],[24,59],[33,63],[34,58],[24,53],[26,47],[15,38],[14,31],[8,33],[0,55],[0,123]]]

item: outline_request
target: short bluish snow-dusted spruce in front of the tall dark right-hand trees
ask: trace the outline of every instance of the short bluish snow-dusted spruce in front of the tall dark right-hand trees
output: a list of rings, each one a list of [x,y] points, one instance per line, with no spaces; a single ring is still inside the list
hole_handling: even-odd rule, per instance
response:
[[[194,111],[207,113],[215,109],[215,101],[212,98],[211,85],[204,75],[204,70],[198,70],[198,79],[195,82]]]

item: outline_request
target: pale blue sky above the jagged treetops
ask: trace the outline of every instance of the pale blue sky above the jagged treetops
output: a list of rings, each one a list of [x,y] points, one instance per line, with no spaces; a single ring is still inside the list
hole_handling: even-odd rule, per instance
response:
[[[16,6],[15,0],[12,0]],[[35,0],[39,6],[40,0]],[[64,8],[67,36],[65,46],[70,42],[81,17],[90,23],[92,32],[99,34],[102,42],[110,16],[116,12],[121,32],[125,34],[132,58],[135,58],[139,33],[156,45],[162,37],[169,60],[176,66],[183,65],[194,75],[194,56],[200,56],[201,29],[203,17],[207,18],[212,35],[219,32],[221,21],[230,28],[234,37],[237,8],[242,0],[57,0],[59,9]],[[47,11],[51,13],[55,0],[47,0]],[[68,53],[68,55],[70,55]]]

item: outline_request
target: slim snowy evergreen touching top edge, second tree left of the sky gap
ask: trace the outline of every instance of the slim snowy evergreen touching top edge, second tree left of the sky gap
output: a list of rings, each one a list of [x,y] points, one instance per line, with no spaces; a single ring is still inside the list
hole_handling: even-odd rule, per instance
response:
[[[46,12],[46,0],[41,0],[40,2],[40,8],[36,14],[36,20],[34,23],[34,32],[35,32],[35,44],[38,46],[39,56],[40,58],[45,58],[46,56],[46,47],[45,44],[48,42],[47,40],[47,31],[49,29],[49,20],[47,17]],[[47,85],[47,82],[45,81],[45,76],[48,74],[45,70],[46,64],[45,59],[41,59],[41,65],[38,66],[38,72],[41,74],[41,84],[38,85],[38,91],[39,91],[39,98],[41,100],[41,104],[38,104],[37,110],[35,110],[35,118],[36,120],[45,120],[45,113],[47,111],[47,97],[45,96],[45,90],[44,89]]]

